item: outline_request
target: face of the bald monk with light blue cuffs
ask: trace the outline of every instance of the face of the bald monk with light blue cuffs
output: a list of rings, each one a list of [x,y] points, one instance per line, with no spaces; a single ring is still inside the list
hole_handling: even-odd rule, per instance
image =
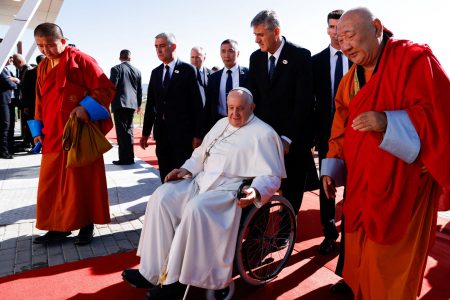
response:
[[[364,19],[357,13],[341,17],[338,23],[338,40],[342,52],[352,62],[366,69],[375,67],[380,51],[379,21]]]

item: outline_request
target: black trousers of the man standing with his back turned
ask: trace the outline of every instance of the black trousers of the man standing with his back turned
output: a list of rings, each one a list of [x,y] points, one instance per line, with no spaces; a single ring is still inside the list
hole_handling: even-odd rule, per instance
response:
[[[134,109],[131,108],[121,108],[114,111],[117,144],[119,144],[119,160],[123,162],[134,161],[133,116]]]

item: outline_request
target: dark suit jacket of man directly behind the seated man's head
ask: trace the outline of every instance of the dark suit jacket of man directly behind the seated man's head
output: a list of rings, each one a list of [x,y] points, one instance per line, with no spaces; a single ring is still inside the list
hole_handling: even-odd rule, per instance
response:
[[[248,68],[238,66],[239,68],[239,84],[238,86],[248,88]],[[206,103],[204,110],[204,130],[203,134],[214,126],[214,124],[222,118],[217,111],[220,95],[220,80],[225,68],[209,75],[208,86],[206,87]],[[233,86],[235,88],[235,86]]]

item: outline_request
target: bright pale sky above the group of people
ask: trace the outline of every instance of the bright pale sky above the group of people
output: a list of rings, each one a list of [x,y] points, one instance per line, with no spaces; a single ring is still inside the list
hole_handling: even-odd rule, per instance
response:
[[[222,67],[220,43],[233,38],[240,45],[240,64],[248,66],[250,54],[257,49],[250,21],[260,10],[276,10],[282,34],[315,54],[328,45],[328,12],[357,6],[371,9],[397,38],[429,44],[450,72],[445,0],[65,0],[57,23],[70,42],[93,56],[108,76],[119,63],[120,50],[129,49],[132,64],[148,82],[151,70],[160,64],[153,46],[160,32],[175,34],[177,53],[184,61],[189,62],[192,46],[204,47],[207,67]],[[5,30],[0,28],[0,35]],[[32,41],[28,30],[23,37],[25,53]]]

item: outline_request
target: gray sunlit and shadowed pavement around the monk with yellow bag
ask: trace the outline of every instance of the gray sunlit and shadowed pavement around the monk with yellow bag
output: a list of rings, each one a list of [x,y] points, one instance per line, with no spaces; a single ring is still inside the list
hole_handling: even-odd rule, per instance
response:
[[[137,248],[149,196],[160,185],[159,172],[144,161],[116,166],[117,146],[104,155],[111,223],[95,225],[90,245],[75,246],[69,239],[37,245],[36,194],[41,155],[18,154],[0,160],[0,277],[85,258]]]

